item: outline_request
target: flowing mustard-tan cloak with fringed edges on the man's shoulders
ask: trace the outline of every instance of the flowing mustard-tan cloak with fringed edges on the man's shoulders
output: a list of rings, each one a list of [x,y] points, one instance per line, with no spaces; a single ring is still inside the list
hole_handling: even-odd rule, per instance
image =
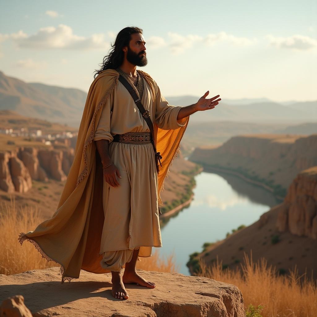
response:
[[[140,73],[151,87],[153,109],[155,109],[158,86],[149,74],[143,71]],[[92,273],[110,272],[100,266],[102,255],[99,255],[99,251],[104,223],[102,195],[100,195],[100,189],[103,187],[103,169],[94,143],[94,133],[102,107],[118,85],[118,81],[119,73],[114,69],[107,69],[100,72],[92,82],[81,118],[74,161],[57,210],[34,231],[21,232],[18,237],[21,245],[28,240],[48,262],[55,261],[61,265],[61,283],[79,278],[81,269]],[[160,129],[153,122],[154,143],[163,157],[162,167],[159,166],[158,173],[160,206],[162,205],[160,192],[164,189],[169,166],[179,153],[180,141],[188,125],[189,116],[182,120],[183,126],[175,130]]]

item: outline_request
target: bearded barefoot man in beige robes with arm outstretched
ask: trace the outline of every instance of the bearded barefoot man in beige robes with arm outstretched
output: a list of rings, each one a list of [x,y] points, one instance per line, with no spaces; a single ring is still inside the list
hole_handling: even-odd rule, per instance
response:
[[[61,264],[62,283],[79,278],[81,269],[111,271],[118,299],[128,298],[125,284],[155,287],[138,275],[136,261],[162,246],[158,203],[164,179],[189,116],[221,100],[206,99],[207,91],[191,106],[169,105],[152,77],[136,70],[147,64],[142,32],[127,27],[118,33],[89,89],[58,209],[35,231],[19,236],[21,244],[29,240],[48,261]],[[120,74],[148,111],[154,140]],[[159,168],[153,144],[161,153]]]

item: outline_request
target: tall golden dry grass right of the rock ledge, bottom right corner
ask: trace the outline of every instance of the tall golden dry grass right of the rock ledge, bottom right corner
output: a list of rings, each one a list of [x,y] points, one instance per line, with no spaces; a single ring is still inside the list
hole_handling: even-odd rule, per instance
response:
[[[199,258],[199,276],[236,285],[242,292],[245,308],[252,304],[264,306],[263,317],[314,317],[317,316],[316,282],[307,275],[299,276],[296,268],[289,275],[278,275],[275,267],[268,266],[265,259],[252,262],[244,254],[240,270],[222,269],[222,262],[210,267]]]

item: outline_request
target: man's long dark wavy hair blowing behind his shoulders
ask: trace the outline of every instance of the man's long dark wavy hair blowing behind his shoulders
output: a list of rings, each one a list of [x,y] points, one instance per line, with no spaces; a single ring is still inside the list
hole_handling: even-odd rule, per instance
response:
[[[111,44],[111,47],[113,49],[111,49],[111,52],[109,53],[109,55],[106,55],[103,58],[103,63],[100,64],[101,68],[99,70],[95,69],[96,73],[94,74],[94,78],[96,78],[96,76],[103,70],[118,68],[123,63],[124,53],[122,49],[125,46],[129,46],[129,42],[131,40],[131,34],[134,34],[134,33],[143,34],[143,30],[136,26],[132,26],[132,27],[126,27],[122,29],[117,34],[114,44]]]

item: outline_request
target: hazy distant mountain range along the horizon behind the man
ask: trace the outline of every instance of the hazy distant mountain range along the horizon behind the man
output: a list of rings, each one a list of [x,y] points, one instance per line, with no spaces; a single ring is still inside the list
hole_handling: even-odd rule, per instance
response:
[[[21,115],[67,123],[78,127],[87,93],[74,88],[26,83],[0,71],[0,110],[14,110]],[[169,104],[188,106],[198,96],[166,97]],[[223,99],[216,108],[191,116],[195,122],[252,122],[302,124],[317,121],[317,100],[277,103],[267,98]]]

